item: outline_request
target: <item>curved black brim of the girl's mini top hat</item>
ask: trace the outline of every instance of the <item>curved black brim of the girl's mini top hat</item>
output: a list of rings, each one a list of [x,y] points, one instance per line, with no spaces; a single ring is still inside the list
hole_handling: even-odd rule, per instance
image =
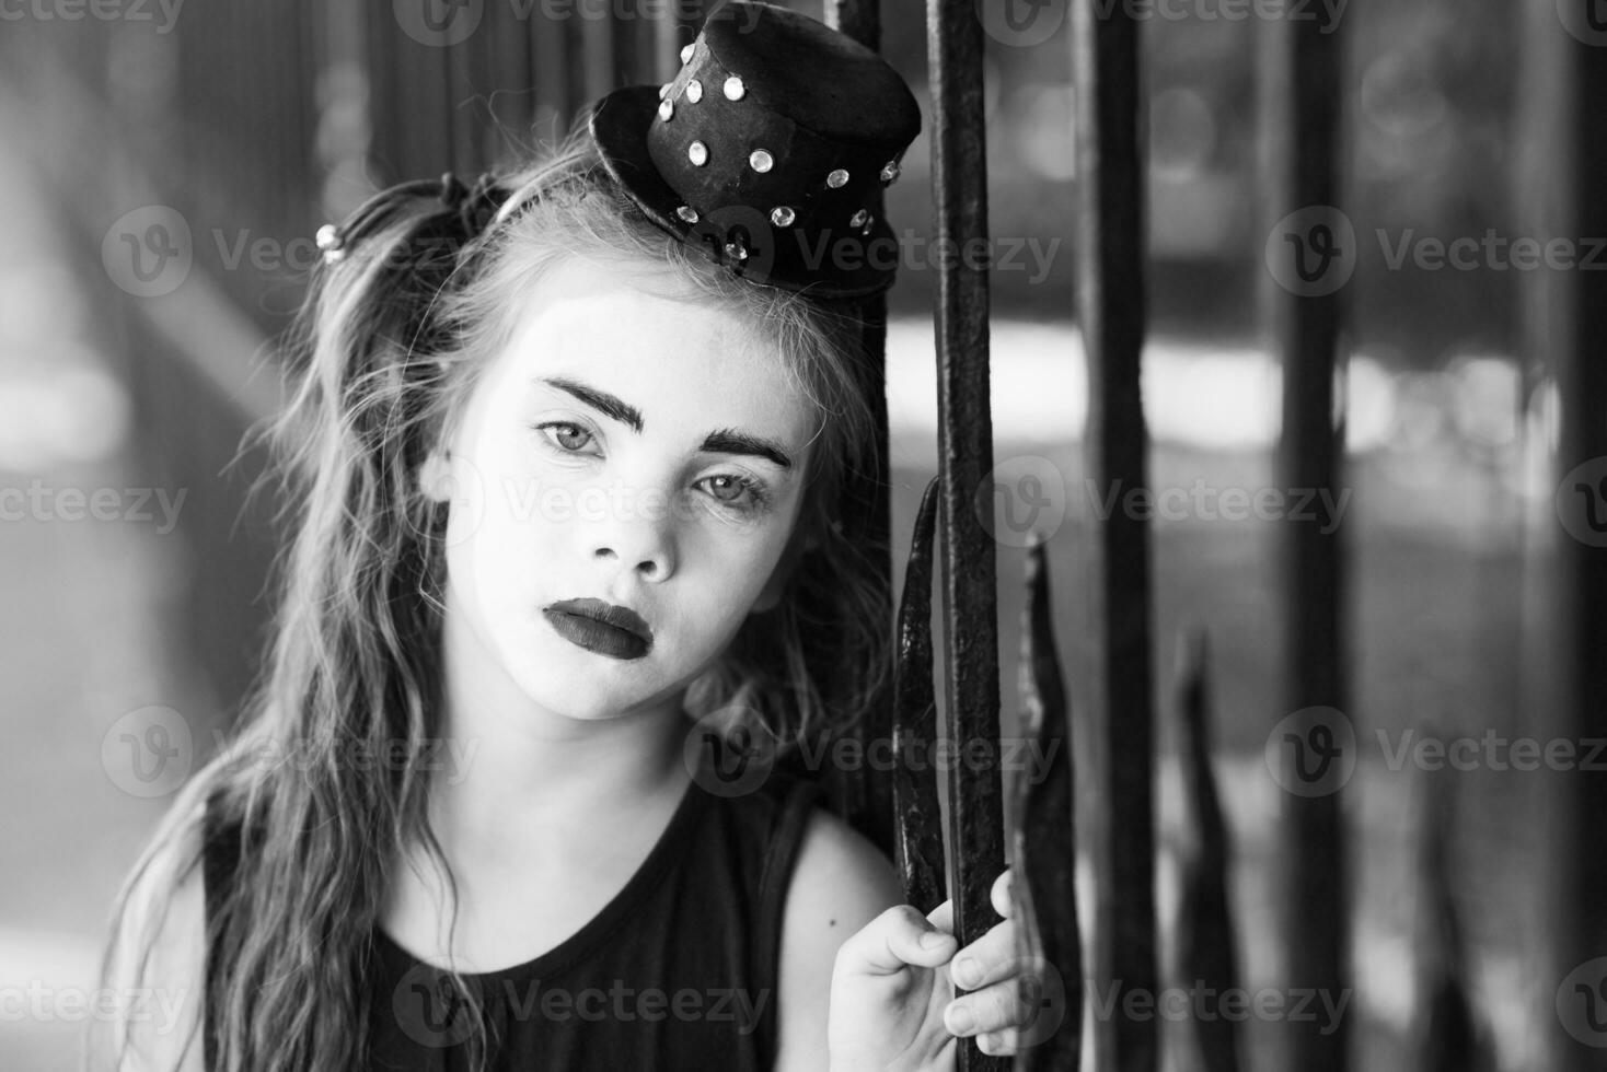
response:
[[[677,209],[685,202],[659,175],[648,152],[648,128],[657,111],[659,87],[628,85],[607,93],[591,106],[590,130],[607,173],[660,229],[709,260],[726,263],[710,239],[715,238],[718,225],[728,223],[734,215],[744,226],[763,228],[773,239],[768,242],[770,252],[760,258],[763,263],[742,266],[741,274],[746,279],[826,298],[866,297],[892,286],[895,265],[877,266],[873,257],[865,255],[866,249],[897,250],[897,236],[884,220],[876,220],[866,236],[839,236],[839,241],[847,239],[861,255],[837,257],[837,260],[853,263],[826,265],[823,250],[831,244],[831,234],[805,236],[789,228],[773,228],[759,209],[728,209],[723,220],[722,212],[715,210],[697,223],[678,217]]]

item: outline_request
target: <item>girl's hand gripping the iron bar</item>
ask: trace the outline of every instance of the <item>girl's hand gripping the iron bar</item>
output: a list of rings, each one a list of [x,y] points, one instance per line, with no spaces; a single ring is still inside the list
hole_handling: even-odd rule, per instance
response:
[[[1006,870],[992,891],[1004,923],[958,955],[953,900],[930,916],[897,905],[842,944],[831,979],[831,1072],[947,1072],[956,1037],[977,1037],[988,1054],[1016,1053],[1032,1009],[1017,993],[1025,961],[1009,883]],[[955,982],[974,993],[955,998]]]

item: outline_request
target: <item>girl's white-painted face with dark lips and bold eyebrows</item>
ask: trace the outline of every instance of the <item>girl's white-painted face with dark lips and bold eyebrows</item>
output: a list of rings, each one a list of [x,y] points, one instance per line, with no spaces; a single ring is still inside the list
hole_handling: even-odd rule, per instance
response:
[[[561,260],[426,465],[472,672],[574,719],[678,701],[775,603],[815,425],[752,324]]]

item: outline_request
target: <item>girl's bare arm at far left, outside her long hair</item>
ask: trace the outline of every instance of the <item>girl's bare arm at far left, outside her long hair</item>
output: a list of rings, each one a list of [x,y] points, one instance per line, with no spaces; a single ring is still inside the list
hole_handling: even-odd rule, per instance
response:
[[[206,1072],[199,1030],[206,995],[199,862],[172,886],[174,871],[198,859],[198,841],[180,838],[157,849],[129,891],[106,977],[117,1017],[90,1040],[95,1072]],[[156,937],[141,973],[143,942],[151,932]]]

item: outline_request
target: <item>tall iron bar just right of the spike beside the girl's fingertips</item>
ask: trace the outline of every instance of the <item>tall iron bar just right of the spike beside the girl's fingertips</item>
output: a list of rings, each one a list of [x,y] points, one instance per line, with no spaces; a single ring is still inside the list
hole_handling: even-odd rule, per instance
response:
[[[1072,3],[1078,159],[1077,316],[1088,355],[1091,491],[1147,488],[1139,351],[1144,342],[1144,169],[1139,132],[1138,13]],[[1093,977],[1114,1019],[1096,1032],[1099,1067],[1152,1072],[1152,1017],[1128,1017],[1123,997],[1155,995],[1155,836],[1152,810],[1149,525],[1114,510],[1088,541],[1094,820]]]

